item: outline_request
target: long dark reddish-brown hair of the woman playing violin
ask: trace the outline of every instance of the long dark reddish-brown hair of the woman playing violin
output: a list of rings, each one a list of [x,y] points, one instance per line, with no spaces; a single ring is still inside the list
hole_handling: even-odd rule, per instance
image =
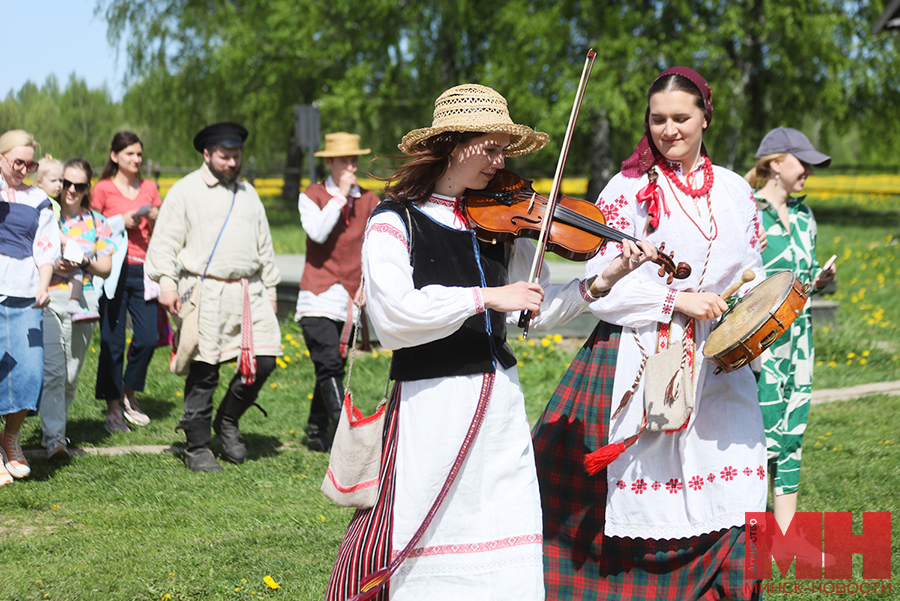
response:
[[[426,200],[438,178],[447,170],[450,155],[456,146],[482,135],[481,132],[443,132],[426,140],[422,150],[402,157],[390,157],[408,160],[397,167],[390,177],[377,178],[387,182],[385,195],[404,202]]]

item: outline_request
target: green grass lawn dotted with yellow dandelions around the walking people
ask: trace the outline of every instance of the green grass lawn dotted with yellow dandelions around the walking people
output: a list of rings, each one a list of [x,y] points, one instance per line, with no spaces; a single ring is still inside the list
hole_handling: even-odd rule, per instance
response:
[[[841,308],[836,328],[816,331],[816,388],[900,379],[898,214],[817,214],[820,260],[839,257]],[[279,252],[302,250],[293,215],[272,215]],[[268,418],[251,408],[241,421],[250,447],[244,465],[198,475],[172,453],[85,455],[61,465],[34,459],[30,478],[0,489],[0,600],[321,599],[351,512],[319,492],[327,457],[302,445],[313,369],[295,324],[284,325],[283,343],[285,357],[260,395]],[[180,446],[174,428],[184,381],[168,372],[168,349],[157,352],[139,396],[150,426],[109,435],[93,395],[97,348],[95,340],[70,410],[72,444]],[[549,337],[514,342],[532,421],[577,348]],[[383,393],[389,361],[380,350],[357,354],[351,387],[367,411]],[[216,401],[231,374],[223,366]],[[800,511],[852,511],[859,521],[863,511],[900,510],[900,439],[886,419],[897,406],[897,397],[870,396],[812,408]],[[39,440],[39,420],[29,418],[23,443],[37,448]],[[897,570],[900,520],[892,529]],[[859,566],[855,575],[861,579]],[[897,578],[892,584],[900,590]],[[782,597],[798,595],[766,595]],[[873,597],[888,598],[866,595]]]

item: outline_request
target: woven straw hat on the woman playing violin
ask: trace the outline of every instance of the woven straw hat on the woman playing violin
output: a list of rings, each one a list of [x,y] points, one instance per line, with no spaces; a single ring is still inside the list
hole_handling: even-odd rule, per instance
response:
[[[550,138],[527,125],[513,123],[506,99],[486,86],[466,83],[450,88],[434,101],[431,127],[414,129],[397,146],[406,154],[422,150],[425,142],[448,131],[509,134],[505,155],[519,156],[543,148]]]

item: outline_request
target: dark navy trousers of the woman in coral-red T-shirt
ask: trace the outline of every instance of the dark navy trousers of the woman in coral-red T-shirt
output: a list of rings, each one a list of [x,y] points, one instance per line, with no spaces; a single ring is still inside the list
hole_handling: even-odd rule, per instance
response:
[[[159,341],[159,304],[144,300],[144,266],[122,265],[116,296],[100,294],[100,358],[95,396],[108,401],[122,398],[122,366],[125,363],[125,322],[131,315],[131,349],[125,367],[125,386],[143,391],[147,366]]]

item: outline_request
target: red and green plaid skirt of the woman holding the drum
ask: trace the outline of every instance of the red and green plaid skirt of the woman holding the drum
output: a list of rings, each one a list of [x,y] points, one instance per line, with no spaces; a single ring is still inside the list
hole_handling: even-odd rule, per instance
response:
[[[584,456],[608,442],[621,334],[597,325],[534,427],[547,599],[758,599],[758,581],[744,577],[742,527],[674,540],[604,536],[606,470],[588,476]]]

